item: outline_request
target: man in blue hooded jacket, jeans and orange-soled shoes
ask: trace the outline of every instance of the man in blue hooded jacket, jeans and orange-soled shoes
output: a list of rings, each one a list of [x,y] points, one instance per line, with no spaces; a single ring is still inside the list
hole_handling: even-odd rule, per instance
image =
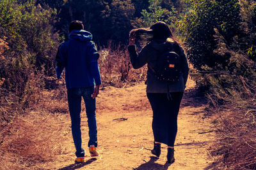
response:
[[[62,43],[56,56],[57,78],[61,78],[65,68],[65,80],[68,95],[68,108],[71,118],[72,136],[76,146],[76,162],[84,162],[84,150],[81,139],[81,98],[83,97],[88,118],[88,142],[91,156],[98,156],[97,125],[95,118],[95,97],[99,94],[101,84],[97,60],[99,53],[92,41],[92,34],[84,31],[80,21],[73,21],[69,27],[68,41]],[[95,85],[95,88],[94,88]]]

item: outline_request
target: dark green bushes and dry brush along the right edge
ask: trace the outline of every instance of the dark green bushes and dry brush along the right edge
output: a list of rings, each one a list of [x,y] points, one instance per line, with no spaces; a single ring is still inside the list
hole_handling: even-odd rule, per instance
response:
[[[180,28],[191,74],[218,114],[220,147],[229,169],[255,169],[255,1],[189,1]],[[236,148],[236,149],[234,149]]]

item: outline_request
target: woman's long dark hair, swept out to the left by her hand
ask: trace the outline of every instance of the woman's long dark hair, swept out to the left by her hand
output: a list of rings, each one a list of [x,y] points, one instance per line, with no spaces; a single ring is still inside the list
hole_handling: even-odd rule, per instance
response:
[[[155,24],[151,25],[150,28],[132,29],[130,31],[130,36],[135,36],[135,38],[141,38],[147,41],[152,41],[153,39],[172,38],[174,41],[179,43],[175,36],[173,36],[173,33],[168,25],[162,21],[156,22]]]

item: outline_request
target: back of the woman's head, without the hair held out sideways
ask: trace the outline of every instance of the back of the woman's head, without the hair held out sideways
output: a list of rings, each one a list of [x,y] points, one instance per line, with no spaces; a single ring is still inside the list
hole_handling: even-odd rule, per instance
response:
[[[156,22],[150,29],[153,31],[153,39],[167,39],[172,38],[172,31],[165,22]]]

